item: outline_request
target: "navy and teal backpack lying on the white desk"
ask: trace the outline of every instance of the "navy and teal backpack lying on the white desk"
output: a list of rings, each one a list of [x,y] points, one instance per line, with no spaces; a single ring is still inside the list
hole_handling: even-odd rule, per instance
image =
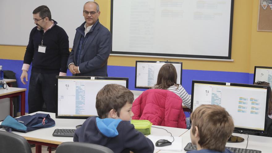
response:
[[[6,131],[11,132],[13,130],[16,130],[25,133],[43,127],[49,128],[53,126],[55,126],[55,121],[50,117],[49,114],[43,113],[21,116],[19,118],[13,118],[8,115],[1,123],[1,127],[6,128]]]

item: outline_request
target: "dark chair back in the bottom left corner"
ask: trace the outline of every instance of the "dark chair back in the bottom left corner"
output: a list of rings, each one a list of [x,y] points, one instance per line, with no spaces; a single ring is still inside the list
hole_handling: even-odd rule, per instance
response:
[[[14,145],[16,145],[16,147]],[[25,138],[6,131],[0,131],[0,152],[32,153],[28,141]]]

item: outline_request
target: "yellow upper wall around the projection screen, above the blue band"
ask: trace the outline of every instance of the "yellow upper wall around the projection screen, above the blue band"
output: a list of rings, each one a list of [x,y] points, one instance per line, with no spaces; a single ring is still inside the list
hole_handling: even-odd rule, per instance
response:
[[[110,0],[95,0],[100,5],[100,23],[110,29]],[[257,32],[258,0],[235,0],[232,31],[234,62],[110,56],[108,65],[135,66],[136,60],[183,62],[183,69],[253,73],[255,65],[270,64],[272,32]],[[23,60],[25,46],[0,45],[0,58]]]

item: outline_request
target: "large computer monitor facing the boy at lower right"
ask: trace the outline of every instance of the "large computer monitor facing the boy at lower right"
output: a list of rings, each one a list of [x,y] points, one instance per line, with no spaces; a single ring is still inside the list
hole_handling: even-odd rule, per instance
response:
[[[269,92],[268,86],[193,80],[191,111],[201,104],[220,105],[235,130],[266,133]]]

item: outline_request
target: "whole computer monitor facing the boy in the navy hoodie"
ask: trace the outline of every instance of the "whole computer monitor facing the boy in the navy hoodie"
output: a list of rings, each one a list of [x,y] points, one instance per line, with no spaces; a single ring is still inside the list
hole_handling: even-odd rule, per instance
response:
[[[96,95],[105,85],[112,83],[128,88],[128,78],[56,76],[56,118],[97,116]]]

